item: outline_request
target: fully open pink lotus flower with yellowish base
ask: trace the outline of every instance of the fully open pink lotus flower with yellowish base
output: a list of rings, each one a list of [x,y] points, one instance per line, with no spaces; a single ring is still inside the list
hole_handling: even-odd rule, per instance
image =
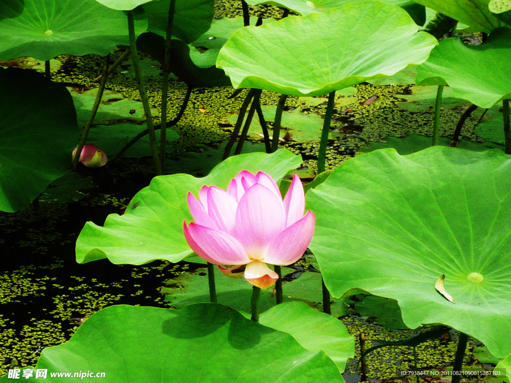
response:
[[[183,222],[183,231],[192,250],[227,276],[244,273],[261,289],[278,279],[266,264],[296,262],[314,234],[314,213],[304,215],[304,188],[296,174],[284,201],[270,176],[244,170],[227,192],[203,186],[199,200],[189,193],[188,206],[195,222]]]

